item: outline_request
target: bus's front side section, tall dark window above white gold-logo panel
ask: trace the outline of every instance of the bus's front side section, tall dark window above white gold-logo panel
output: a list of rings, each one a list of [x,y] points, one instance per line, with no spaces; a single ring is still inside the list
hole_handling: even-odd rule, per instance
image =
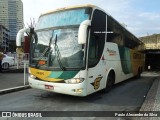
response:
[[[106,14],[94,10],[88,42],[88,94],[105,86],[106,61],[103,56],[106,39]]]

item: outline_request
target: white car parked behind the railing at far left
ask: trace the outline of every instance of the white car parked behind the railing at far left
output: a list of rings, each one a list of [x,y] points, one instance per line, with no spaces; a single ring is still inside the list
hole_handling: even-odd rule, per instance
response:
[[[3,69],[9,69],[10,66],[14,65],[14,57],[10,57],[6,54],[4,54],[4,58],[2,60],[2,68]]]

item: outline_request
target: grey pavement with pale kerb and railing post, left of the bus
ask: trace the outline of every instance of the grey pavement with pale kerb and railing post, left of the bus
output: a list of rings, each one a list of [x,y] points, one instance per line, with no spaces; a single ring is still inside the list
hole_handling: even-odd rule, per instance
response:
[[[3,70],[3,73],[0,73],[0,95],[30,88],[27,76],[26,73],[24,77],[24,68],[22,66],[19,69],[13,66],[9,70]]]

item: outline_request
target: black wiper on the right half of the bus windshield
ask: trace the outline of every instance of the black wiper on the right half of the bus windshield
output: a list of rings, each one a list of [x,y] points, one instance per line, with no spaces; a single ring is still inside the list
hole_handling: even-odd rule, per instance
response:
[[[60,68],[64,71],[65,70],[65,67],[63,66],[62,62],[61,62],[61,53],[59,51],[59,48],[58,48],[58,45],[57,45],[57,35],[56,35],[56,38],[55,38],[55,46],[54,46],[54,49],[55,49],[55,52],[57,53],[57,61],[58,61],[58,64],[60,66]]]

